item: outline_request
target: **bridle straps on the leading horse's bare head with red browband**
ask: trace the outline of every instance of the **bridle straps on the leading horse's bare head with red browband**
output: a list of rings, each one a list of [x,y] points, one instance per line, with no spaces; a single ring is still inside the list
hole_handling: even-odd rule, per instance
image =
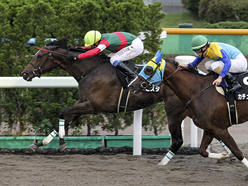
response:
[[[58,68],[59,66],[61,66],[62,63],[65,62],[65,60],[69,57],[68,55],[64,55],[64,54],[61,54],[61,53],[58,53],[58,52],[54,52],[52,50],[49,50],[46,46],[44,48],[38,48],[38,47],[35,47],[39,50],[42,50],[42,51],[46,51],[48,52],[48,56],[47,58],[45,59],[45,61],[41,64],[40,67],[37,67],[36,65],[34,65],[31,61],[29,62],[29,64],[31,64],[33,67],[34,67],[34,70],[33,70],[33,74],[35,75],[35,77],[40,77],[42,73],[45,73],[45,72],[48,72],[48,71],[51,71],[52,69],[54,68]],[[68,53],[68,50],[67,50],[67,53]],[[57,54],[57,55],[60,55],[60,56],[64,56],[65,58],[63,59],[63,61],[61,61],[59,64],[56,64],[53,60],[53,54]],[[55,64],[53,67],[50,67],[50,68],[47,68],[47,69],[43,69],[46,65],[47,65],[47,62],[49,60],[52,60],[52,62]]]

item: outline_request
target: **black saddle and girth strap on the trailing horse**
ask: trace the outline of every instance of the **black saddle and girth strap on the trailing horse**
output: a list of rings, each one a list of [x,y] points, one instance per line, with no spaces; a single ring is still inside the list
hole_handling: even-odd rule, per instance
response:
[[[241,89],[235,92],[229,92],[229,85],[226,79],[223,79],[220,86],[216,86],[216,90],[227,99],[227,106],[229,110],[230,123],[238,124],[238,114],[236,109],[236,101],[247,101],[248,100],[248,71],[243,73],[232,74],[236,77],[238,83],[242,86]],[[216,74],[216,77],[218,75]]]

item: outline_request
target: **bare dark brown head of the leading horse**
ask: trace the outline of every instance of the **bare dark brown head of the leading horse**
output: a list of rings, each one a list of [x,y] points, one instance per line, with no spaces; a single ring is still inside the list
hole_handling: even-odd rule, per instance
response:
[[[58,49],[67,49],[66,38],[60,39],[58,41],[53,41],[43,48],[38,48],[39,51],[34,55],[33,59],[29,62],[27,67],[23,70],[21,75],[26,81],[32,81],[35,77],[40,77],[42,74],[53,70],[61,65],[53,57],[56,56],[63,57],[66,60],[67,56],[61,52],[55,52]]]

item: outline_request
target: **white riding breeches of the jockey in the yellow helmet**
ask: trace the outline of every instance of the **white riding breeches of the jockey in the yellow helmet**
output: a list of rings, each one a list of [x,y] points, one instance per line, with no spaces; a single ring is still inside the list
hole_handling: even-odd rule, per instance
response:
[[[133,40],[131,45],[126,46],[116,53],[110,53],[108,57],[110,57],[110,63],[113,65],[115,61],[127,61],[133,59],[142,54],[143,51],[143,42],[139,38],[136,38],[135,40]]]

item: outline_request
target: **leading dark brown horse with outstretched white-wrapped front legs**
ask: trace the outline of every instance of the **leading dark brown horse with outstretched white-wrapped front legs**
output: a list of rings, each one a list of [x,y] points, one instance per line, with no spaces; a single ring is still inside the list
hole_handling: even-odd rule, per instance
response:
[[[79,99],[68,108],[62,109],[59,117],[65,120],[68,127],[76,118],[82,114],[97,114],[99,112],[116,113],[121,83],[116,75],[116,69],[109,63],[109,58],[94,56],[84,60],[71,62],[68,56],[76,55],[76,52],[67,50],[66,39],[49,43],[40,49],[31,62],[23,70],[23,78],[32,81],[33,78],[41,76],[56,68],[67,71],[78,82]],[[127,111],[134,111],[148,107],[152,104],[164,101],[165,111],[168,116],[169,130],[172,136],[170,150],[173,153],[183,144],[181,133],[181,122],[189,114],[184,104],[166,86],[162,85],[159,93],[142,92],[139,95],[130,94]],[[47,145],[61,129],[56,128],[42,142],[30,145],[36,149]],[[63,135],[60,136],[60,150],[66,148]]]

